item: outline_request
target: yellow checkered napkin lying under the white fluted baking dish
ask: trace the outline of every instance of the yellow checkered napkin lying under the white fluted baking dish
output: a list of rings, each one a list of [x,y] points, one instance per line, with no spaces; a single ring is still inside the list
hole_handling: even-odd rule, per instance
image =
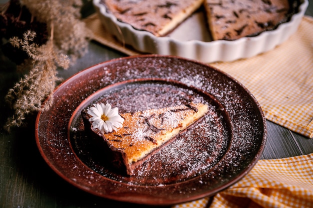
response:
[[[128,55],[139,54],[110,36],[96,14],[86,18],[85,23],[98,42]],[[304,16],[295,34],[273,50],[251,58],[211,65],[245,85],[260,103],[268,120],[313,137],[312,17]]]

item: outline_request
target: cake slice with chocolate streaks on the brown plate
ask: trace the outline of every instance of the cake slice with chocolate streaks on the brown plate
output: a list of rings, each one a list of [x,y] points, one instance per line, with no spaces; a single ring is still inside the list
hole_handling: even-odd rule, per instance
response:
[[[81,111],[81,116],[85,130],[90,130],[92,137],[103,143],[105,153],[108,153],[107,159],[115,167],[132,175],[134,168],[147,155],[194,123],[207,110],[206,104],[190,103],[123,113],[120,114],[124,119],[122,127],[107,133],[92,127],[92,115],[88,114],[90,111],[87,109]],[[96,126],[98,127],[97,124]]]

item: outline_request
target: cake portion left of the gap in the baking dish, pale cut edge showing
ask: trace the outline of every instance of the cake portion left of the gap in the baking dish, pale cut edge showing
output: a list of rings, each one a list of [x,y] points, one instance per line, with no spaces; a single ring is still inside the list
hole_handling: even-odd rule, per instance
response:
[[[200,7],[203,0],[103,0],[119,21],[164,36]]]

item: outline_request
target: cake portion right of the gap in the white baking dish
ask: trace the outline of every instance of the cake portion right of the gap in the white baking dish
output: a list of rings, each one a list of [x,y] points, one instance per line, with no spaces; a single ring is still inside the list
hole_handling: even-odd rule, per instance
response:
[[[288,0],[205,0],[213,40],[234,40],[275,29],[287,20]]]

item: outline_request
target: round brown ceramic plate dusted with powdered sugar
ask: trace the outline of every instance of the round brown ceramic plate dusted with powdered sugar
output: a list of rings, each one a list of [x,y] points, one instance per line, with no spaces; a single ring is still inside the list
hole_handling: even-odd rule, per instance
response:
[[[213,195],[241,179],[266,140],[262,110],[229,75],[173,56],[113,59],[60,84],[39,112],[36,142],[62,178],[92,194],[142,204],[174,204]],[[84,132],[80,110],[108,102],[119,112],[205,102],[208,113],[127,176],[110,168]]]

